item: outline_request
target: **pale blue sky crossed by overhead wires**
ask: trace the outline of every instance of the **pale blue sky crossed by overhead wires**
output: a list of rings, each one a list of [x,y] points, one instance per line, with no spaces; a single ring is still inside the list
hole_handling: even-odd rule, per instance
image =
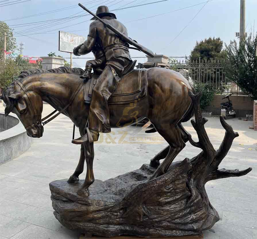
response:
[[[55,52],[56,55],[69,57],[68,53],[58,51],[59,30],[85,37],[88,34],[91,17],[78,6],[78,1],[19,0],[24,2],[4,6],[4,3],[14,1],[0,0],[0,20],[14,29],[17,44],[24,43],[23,55],[40,57]],[[107,5],[111,11],[160,0],[80,1],[95,12],[99,5]],[[45,14],[49,11],[51,12]],[[113,13],[127,27],[130,38],[154,53],[169,57],[189,56],[196,41],[204,38],[220,37],[227,44],[230,40],[236,39],[235,32],[239,32],[240,0],[167,0],[116,10]],[[28,17],[30,15],[36,16]],[[37,23],[78,15],[80,17]],[[256,19],[257,1],[246,0],[247,32],[254,28]],[[21,27],[17,24],[25,25]],[[130,54],[132,57],[145,56],[136,50],[131,50]],[[93,55],[90,53],[81,57],[93,57]],[[147,61],[147,58],[134,59],[141,63]],[[73,62],[74,66],[83,68],[86,59],[74,59]]]

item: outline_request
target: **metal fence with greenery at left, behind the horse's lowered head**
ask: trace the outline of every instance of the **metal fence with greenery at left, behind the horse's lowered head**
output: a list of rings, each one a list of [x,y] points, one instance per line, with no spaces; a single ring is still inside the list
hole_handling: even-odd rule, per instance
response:
[[[41,64],[29,64],[19,62],[8,62],[0,65],[0,87],[5,87],[13,82],[22,71],[29,69],[42,69]]]

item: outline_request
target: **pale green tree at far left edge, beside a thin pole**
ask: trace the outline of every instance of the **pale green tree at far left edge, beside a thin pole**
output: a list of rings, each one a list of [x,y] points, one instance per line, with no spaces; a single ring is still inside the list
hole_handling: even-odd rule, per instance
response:
[[[16,38],[13,36],[13,29],[4,22],[0,21],[0,49],[4,48],[4,33],[6,33],[6,51],[14,52],[17,48]],[[0,51],[0,61],[3,59],[3,51]]]

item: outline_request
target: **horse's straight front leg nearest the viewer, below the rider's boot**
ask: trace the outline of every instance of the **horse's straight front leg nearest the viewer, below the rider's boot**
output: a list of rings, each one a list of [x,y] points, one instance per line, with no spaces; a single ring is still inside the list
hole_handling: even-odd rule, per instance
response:
[[[86,179],[78,190],[78,195],[89,196],[88,187],[94,183],[93,160],[94,160],[94,142],[84,144],[86,158]]]

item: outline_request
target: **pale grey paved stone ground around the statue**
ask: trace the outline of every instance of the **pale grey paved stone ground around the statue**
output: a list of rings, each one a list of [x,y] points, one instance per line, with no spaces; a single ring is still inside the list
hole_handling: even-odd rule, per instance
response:
[[[0,103],[0,112],[3,110]],[[44,105],[43,115],[51,110],[51,106]],[[253,170],[240,178],[206,184],[221,220],[204,232],[204,238],[257,238],[257,132],[249,130],[252,122],[237,119],[228,122],[239,132],[239,137],[221,168]],[[183,125],[196,140],[190,122]],[[219,118],[209,118],[205,126],[213,146],[218,148],[225,133]],[[0,165],[0,239],[79,238],[79,233],[64,228],[55,219],[49,190],[49,182],[69,178],[78,163],[80,146],[71,144],[72,127],[67,117],[57,117],[45,126],[43,137],[34,139],[27,152]],[[146,134],[135,126],[102,135],[95,144],[95,178],[106,180],[138,169],[166,145],[158,133]],[[187,144],[176,160],[192,158],[198,152]],[[80,178],[84,177],[85,172]]]

